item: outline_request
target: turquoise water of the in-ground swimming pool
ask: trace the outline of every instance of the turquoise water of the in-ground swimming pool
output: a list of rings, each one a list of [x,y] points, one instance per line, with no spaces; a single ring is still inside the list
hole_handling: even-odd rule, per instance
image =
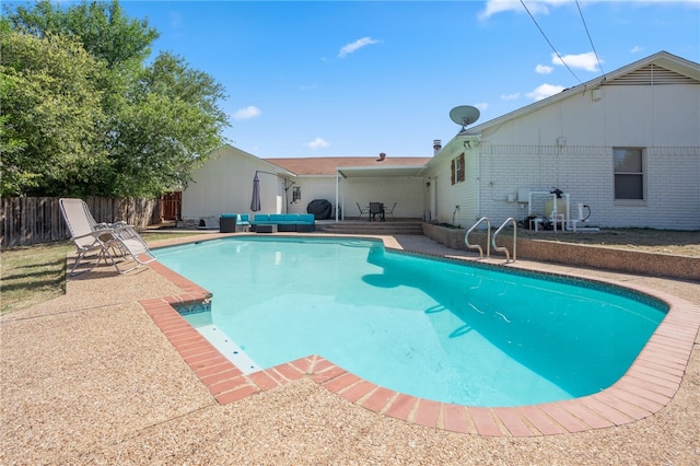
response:
[[[470,406],[597,393],[667,312],[609,286],[373,241],[246,236],[159,260],[213,293],[210,313],[186,318],[243,370],[320,354],[377,385]]]

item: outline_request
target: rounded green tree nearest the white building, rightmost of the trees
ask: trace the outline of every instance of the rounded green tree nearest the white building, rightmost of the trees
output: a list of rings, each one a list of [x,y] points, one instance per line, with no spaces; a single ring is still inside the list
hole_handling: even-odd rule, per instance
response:
[[[159,55],[129,88],[110,133],[120,196],[145,196],[186,185],[191,168],[221,145],[228,117],[223,88],[182,58]]]

